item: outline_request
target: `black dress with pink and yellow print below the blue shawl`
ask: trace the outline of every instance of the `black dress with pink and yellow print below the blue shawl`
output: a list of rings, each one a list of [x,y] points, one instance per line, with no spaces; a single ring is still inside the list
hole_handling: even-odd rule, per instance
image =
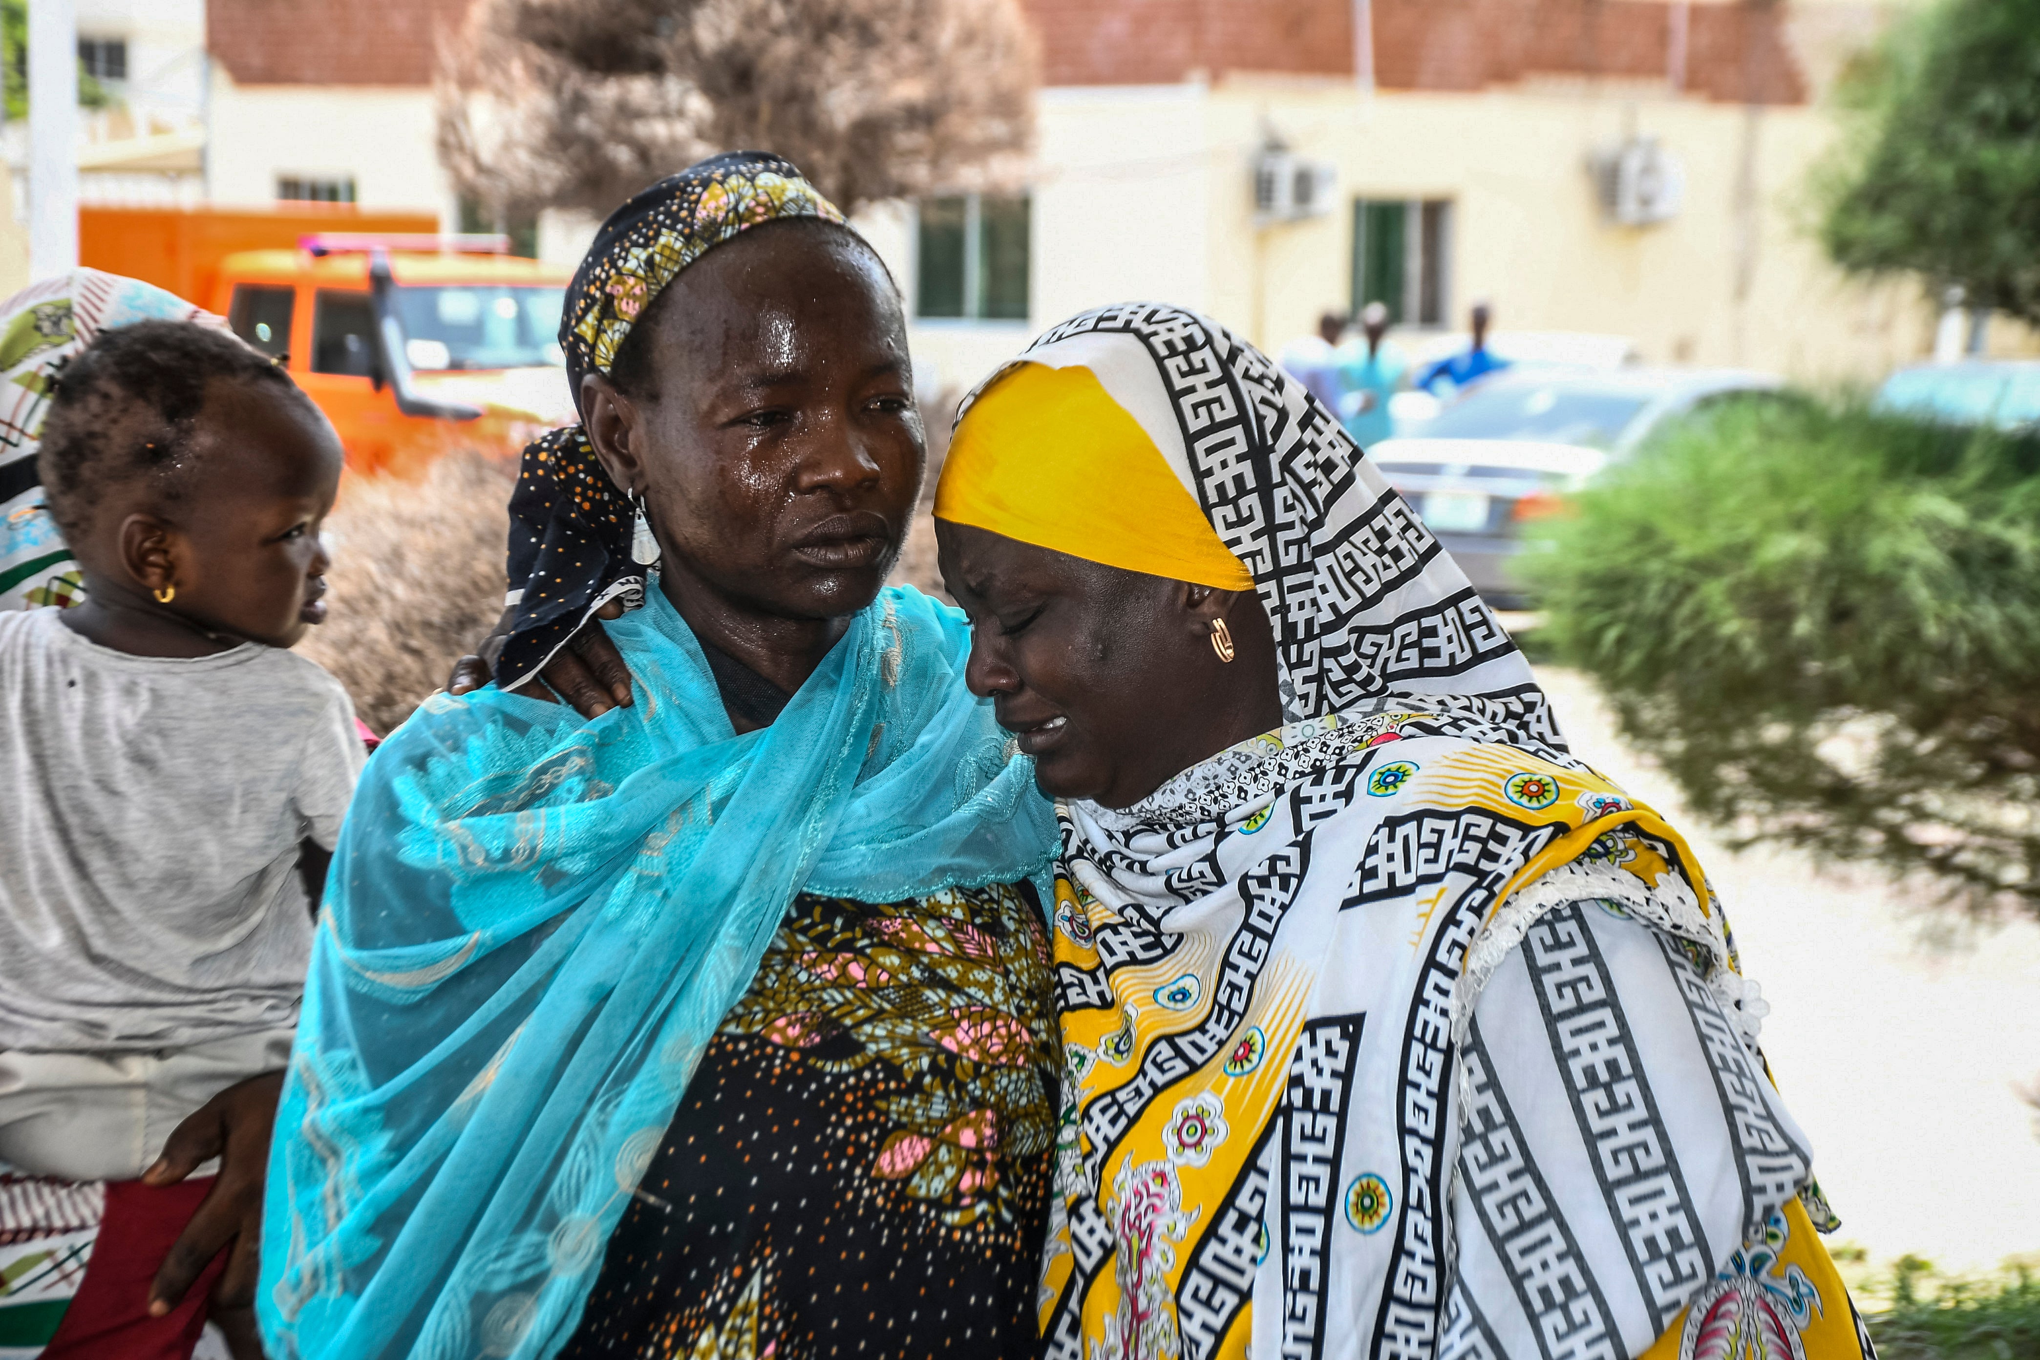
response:
[[[1016,889],[796,899],[565,1356],[1032,1356],[1061,1060]]]

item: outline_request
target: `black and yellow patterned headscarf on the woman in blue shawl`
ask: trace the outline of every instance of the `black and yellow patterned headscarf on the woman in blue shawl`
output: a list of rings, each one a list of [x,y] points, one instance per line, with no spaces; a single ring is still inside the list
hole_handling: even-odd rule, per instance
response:
[[[738,232],[779,218],[843,214],[789,163],[728,151],[641,190],[610,214],[567,287],[559,345],[575,408],[581,379],[608,373],[653,298]],[[524,449],[510,495],[510,638],[496,683],[524,683],[604,601],[643,589],[630,561],[630,502],[579,424]]]

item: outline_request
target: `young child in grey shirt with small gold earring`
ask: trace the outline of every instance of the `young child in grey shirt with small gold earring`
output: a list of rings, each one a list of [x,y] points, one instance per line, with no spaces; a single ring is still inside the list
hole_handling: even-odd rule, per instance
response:
[[[222,1272],[253,1289],[245,1232],[151,1297],[226,1211],[165,1140],[237,1093],[273,1109],[290,1054],[363,759],[347,693],[288,650],[324,614],[339,475],[290,377],[190,322],[104,332],[43,424],[86,601],[0,612],[0,1162],[108,1183],[51,1360],[190,1356]]]

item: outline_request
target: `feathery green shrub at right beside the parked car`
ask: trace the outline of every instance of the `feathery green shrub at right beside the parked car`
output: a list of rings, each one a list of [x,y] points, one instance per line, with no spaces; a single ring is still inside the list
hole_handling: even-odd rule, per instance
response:
[[[2040,911],[2040,440],[1734,404],[1536,548],[1561,655],[1738,844]]]

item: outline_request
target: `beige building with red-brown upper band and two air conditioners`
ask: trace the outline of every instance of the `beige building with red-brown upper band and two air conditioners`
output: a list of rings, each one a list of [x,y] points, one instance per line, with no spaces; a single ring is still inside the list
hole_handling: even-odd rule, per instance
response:
[[[1265,347],[1383,300],[1408,347],[1438,349],[1489,300],[1501,330],[1807,381],[1875,381],[1932,349],[1918,285],[1844,279],[1807,230],[1836,133],[1824,92],[1875,37],[1869,4],[1206,0],[1195,22],[1159,0],[1028,8],[1049,88],[1024,318],[955,316],[951,281],[930,308],[928,259],[955,273],[953,228],[928,206],[867,214],[945,389],[1134,296]],[[1308,202],[1257,200],[1269,169]],[[1014,290],[979,277],[989,241],[963,255],[963,292]],[[2032,347],[2003,318],[1987,341]]]

